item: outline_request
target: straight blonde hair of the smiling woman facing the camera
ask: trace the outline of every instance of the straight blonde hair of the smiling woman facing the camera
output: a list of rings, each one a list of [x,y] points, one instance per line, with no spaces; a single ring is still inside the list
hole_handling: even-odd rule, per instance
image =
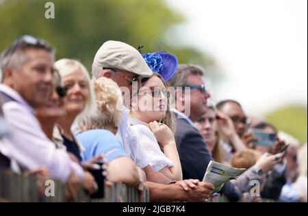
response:
[[[89,97],[86,101],[86,107],[84,111],[82,111],[78,117],[81,117],[83,115],[86,115],[91,109],[94,107],[94,90],[91,85],[91,79],[88,70],[86,67],[78,62],[75,59],[59,59],[57,62],[55,62],[54,67],[56,70],[59,71],[62,81],[64,80],[64,77],[67,75],[70,75],[71,73],[75,72],[76,70],[81,70],[84,76],[86,77],[87,85],[88,85],[88,91],[89,91]]]

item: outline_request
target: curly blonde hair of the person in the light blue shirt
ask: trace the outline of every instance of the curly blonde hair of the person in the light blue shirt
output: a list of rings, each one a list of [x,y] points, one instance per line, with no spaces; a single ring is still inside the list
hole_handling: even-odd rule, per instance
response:
[[[77,121],[80,131],[107,129],[113,131],[120,122],[123,109],[122,92],[112,79],[100,77],[93,79],[96,96],[94,109]]]

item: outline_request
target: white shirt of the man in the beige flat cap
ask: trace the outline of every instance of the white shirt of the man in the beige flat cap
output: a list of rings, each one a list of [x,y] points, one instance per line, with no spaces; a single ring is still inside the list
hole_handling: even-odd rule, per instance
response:
[[[129,110],[124,109],[120,123],[118,124],[118,132],[116,133],[116,137],[120,140],[121,144],[123,144],[127,157],[132,159],[141,168],[144,168],[149,165],[149,160],[142,150],[142,146],[140,146],[140,140],[131,129],[131,125],[128,122],[128,117]]]

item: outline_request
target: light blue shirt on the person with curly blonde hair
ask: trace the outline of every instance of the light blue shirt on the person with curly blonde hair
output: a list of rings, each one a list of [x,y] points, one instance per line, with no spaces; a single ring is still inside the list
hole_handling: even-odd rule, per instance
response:
[[[88,161],[99,154],[104,154],[107,162],[118,157],[127,157],[122,144],[110,131],[104,129],[92,129],[77,133],[76,136],[82,146],[86,149],[81,152],[83,161]]]

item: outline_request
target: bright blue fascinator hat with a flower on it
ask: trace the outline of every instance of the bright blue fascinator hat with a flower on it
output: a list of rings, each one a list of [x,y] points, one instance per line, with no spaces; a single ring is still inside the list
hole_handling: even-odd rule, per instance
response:
[[[164,81],[171,79],[177,71],[177,57],[166,51],[144,53],[142,57],[151,70],[161,75]]]

